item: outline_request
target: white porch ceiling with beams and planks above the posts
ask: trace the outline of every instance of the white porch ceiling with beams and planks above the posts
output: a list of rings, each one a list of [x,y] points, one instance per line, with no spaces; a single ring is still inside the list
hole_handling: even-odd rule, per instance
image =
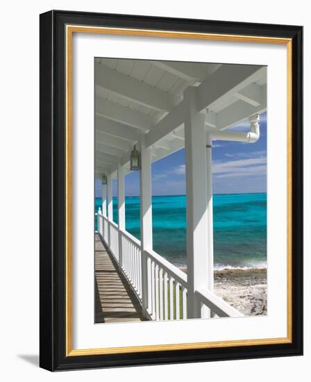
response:
[[[96,58],[95,173],[128,163],[146,135],[153,161],[184,147],[183,92],[196,86],[206,128],[224,130],[267,108],[266,67]],[[201,111],[200,110],[200,111]]]

